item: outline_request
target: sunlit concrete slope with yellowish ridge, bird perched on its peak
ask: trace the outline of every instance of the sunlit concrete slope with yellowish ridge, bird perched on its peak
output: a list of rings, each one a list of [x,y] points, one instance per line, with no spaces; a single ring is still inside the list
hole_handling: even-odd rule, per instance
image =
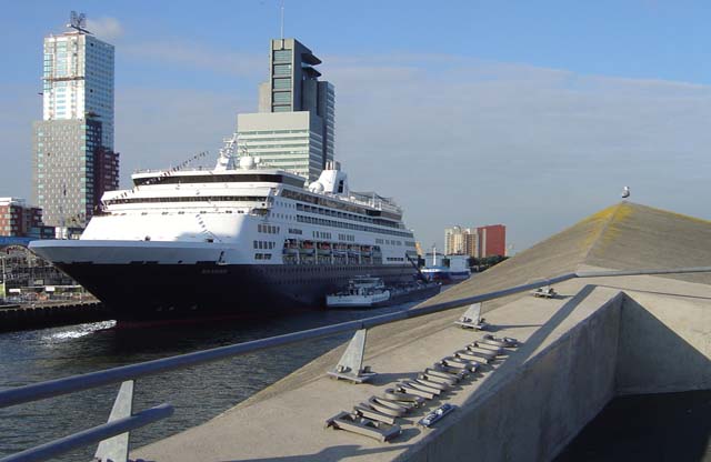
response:
[[[621,202],[475,274],[423,305],[487,293],[585,267],[705,267],[711,264],[710,243],[710,221]],[[711,283],[711,274],[705,273],[668,278]],[[495,305],[492,303],[488,308]]]

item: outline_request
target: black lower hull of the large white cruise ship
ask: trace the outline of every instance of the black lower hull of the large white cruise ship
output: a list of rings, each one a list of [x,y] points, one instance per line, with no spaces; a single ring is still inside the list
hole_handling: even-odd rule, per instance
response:
[[[323,308],[354,275],[413,280],[410,265],[186,265],[61,263],[118,320],[268,317]]]

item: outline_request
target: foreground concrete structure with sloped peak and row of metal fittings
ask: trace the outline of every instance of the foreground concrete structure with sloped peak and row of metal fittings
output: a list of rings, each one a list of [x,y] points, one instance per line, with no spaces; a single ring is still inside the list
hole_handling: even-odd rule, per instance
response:
[[[343,352],[341,346],[218,418],[138,449],[131,456],[551,460],[614,396],[711,389],[711,274],[602,275],[604,270],[709,267],[710,262],[711,222],[622,202],[422,304],[567,271],[579,274],[555,284],[554,299],[518,293],[485,302],[482,311],[491,333],[515,338],[521,345],[399,418],[402,433],[389,443],[324,429],[324,423],[481,340],[483,333],[454,324],[465,307],[369,329],[364,364],[378,373],[369,383],[327,378]],[[442,403],[457,410],[432,428],[417,424]]]

